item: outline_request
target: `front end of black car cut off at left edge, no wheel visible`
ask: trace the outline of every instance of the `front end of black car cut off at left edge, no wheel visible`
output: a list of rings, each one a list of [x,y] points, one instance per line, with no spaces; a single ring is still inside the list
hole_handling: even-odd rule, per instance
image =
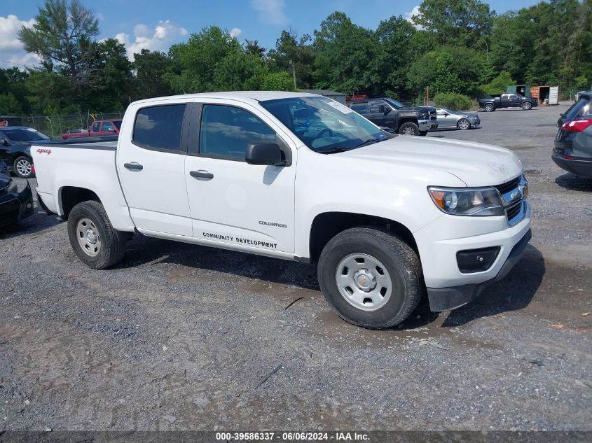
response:
[[[0,174],[0,227],[18,223],[34,212],[33,192],[26,180]]]

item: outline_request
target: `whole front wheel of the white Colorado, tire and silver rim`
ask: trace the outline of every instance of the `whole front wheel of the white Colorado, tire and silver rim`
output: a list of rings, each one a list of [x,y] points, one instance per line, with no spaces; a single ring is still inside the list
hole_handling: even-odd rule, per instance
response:
[[[338,316],[370,329],[404,321],[425,293],[418,255],[402,239],[373,227],[337,234],[324,247],[319,286]]]

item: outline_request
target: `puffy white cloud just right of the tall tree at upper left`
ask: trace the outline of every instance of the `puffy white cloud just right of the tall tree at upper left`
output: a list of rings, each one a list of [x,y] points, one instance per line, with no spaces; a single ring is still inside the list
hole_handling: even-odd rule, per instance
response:
[[[181,40],[181,37],[188,33],[184,27],[178,27],[170,20],[161,20],[156,24],[156,27],[150,29],[146,24],[138,23],[134,27],[134,36],[130,38],[130,34],[120,32],[116,34],[115,38],[120,43],[125,45],[128,52],[128,58],[134,59],[134,54],[139,53],[143,49],[151,51],[166,51],[173,43]]]

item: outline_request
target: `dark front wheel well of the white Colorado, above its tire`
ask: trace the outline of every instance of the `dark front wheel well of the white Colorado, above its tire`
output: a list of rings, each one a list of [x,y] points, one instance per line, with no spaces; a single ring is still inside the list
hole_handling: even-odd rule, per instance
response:
[[[317,262],[324,246],[337,234],[352,227],[361,226],[376,226],[397,234],[419,255],[415,237],[403,223],[365,213],[328,211],[317,214],[310,225],[308,239],[310,262]]]

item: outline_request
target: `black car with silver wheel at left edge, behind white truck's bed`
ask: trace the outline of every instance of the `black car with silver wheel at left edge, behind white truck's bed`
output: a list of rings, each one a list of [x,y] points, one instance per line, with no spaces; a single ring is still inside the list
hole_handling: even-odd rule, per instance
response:
[[[0,160],[8,164],[8,169],[22,178],[34,174],[30,152],[32,143],[48,143],[50,137],[32,127],[0,127]]]

